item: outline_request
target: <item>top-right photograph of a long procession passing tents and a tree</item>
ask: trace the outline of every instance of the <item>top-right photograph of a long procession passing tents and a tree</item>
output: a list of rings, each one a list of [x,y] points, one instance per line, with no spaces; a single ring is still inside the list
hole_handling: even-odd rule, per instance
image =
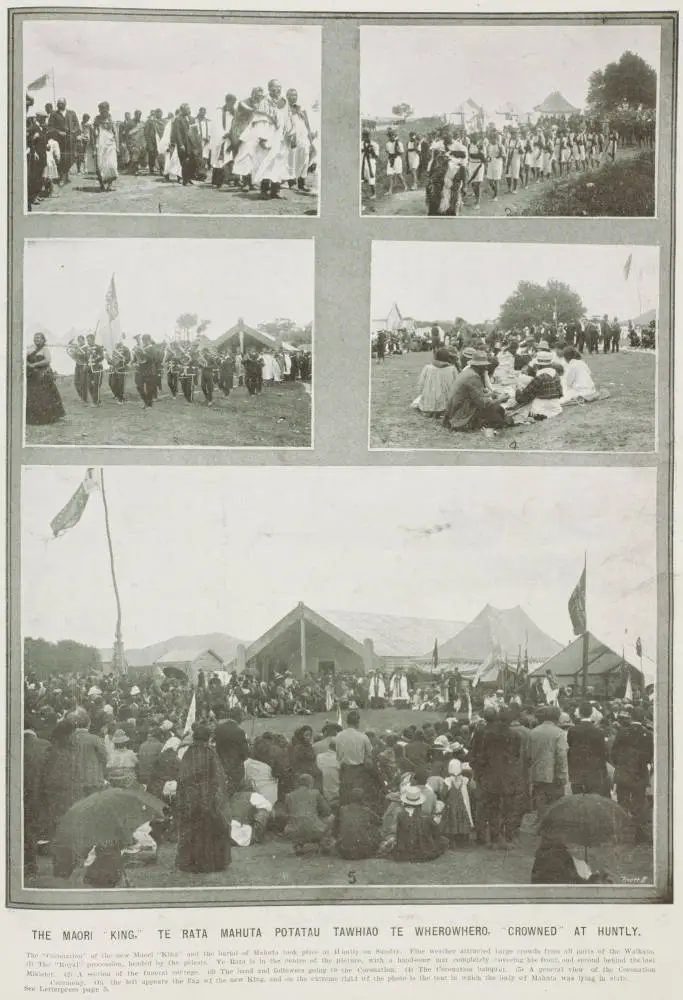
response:
[[[361,28],[361,213],[654,217],[660,28]]]

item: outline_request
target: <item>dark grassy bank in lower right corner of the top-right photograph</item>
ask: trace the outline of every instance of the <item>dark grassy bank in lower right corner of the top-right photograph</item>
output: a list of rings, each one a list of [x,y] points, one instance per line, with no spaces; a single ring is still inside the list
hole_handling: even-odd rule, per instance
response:
[[[542,190],[523,215],[654,216],[655,154],[638,153]]]

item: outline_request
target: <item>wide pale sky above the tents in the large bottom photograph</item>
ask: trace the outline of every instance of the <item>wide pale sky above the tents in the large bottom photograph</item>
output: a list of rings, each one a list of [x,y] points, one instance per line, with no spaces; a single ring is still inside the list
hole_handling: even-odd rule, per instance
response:
[[[110,647],[101,495],[49,529],[84,473],[24,468],[23,629]],[[585,552],[589,628],[654,658],[655,487],[645,468],[110,467],[124,642],[253,640],[304,601],[453,621],[519,604],[566,643]]]

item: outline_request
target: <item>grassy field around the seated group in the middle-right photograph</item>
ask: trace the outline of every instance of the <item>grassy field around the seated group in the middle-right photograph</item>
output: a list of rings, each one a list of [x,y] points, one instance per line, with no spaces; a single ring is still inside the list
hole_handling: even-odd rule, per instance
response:
[[[562,416],[511,427],[487,438],[481,431],[446,430],[411,410],[427,352],[372,362],[371,448],[540,449],[652,451],[655,443],[655,355],[622,351],[587,356],[599,390],[609,399],[566,407]]]

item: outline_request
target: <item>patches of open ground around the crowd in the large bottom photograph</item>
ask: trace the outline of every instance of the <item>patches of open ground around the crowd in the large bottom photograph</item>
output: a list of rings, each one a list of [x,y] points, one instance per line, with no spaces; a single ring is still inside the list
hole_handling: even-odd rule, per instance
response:
[[[327,719],[336,713],[310,717],[281,716],[277,719],[256,719],[243,723],[251,739],[266,729],[290,735],[306,723],[319,731]],[[382,732],[399,730],[410,723],[435,722],[443,715],[435,712],[382,709],[361,713],[364,729]],[[295,857],[292,845],[279,837],[268,836],[265,843],[249,848],[233,848],[232,864],[225,872],[211,875],[191,875],[175,869],[176,844],[162,843],[154,865],[129,869],[132,888],[185,888],[215,886],[296,886],[338,885],[505,885],[529,882],[538,839],[530,832],[528,822],[522,826],[519,844],[505,851],[490,851],[471,844],[447,851],[426,864],[396,862],[387,858],[366,861],[345,861],[343,858],[306,854]],[[589,862],[594,868],[608,868],[618,880],[650,881],[652,849],[638,847],[600,848],[591,850]],[[80,888],[82,870],[77,869],[69,880],[54,878],[51,860],[40,859],[39,874],[27,881],[27,888]],[[355,880],[355,881],[354,881]]]

